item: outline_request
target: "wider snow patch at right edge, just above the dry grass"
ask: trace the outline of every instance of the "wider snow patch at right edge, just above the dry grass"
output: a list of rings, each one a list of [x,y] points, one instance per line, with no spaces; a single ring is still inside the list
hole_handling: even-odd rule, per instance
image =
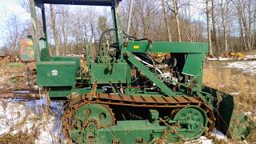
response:
[[[236,68],[250,74],[256,74],[256,61],[230,62],[227,67]]]

